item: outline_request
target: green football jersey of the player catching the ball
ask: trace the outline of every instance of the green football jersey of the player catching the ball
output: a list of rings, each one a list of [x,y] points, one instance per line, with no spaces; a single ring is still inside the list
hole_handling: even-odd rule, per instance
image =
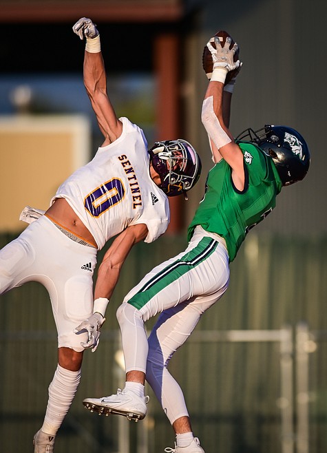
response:
[[[276,204],[282,189],[273,160],[252,143],[238,143],[244,155],[245,185],[233,185],[231,167],[222,159],[210,171],[204,198],[189,225],[191,239],[197,225],[226,241],[233,261],[249,230],[261,222]]]

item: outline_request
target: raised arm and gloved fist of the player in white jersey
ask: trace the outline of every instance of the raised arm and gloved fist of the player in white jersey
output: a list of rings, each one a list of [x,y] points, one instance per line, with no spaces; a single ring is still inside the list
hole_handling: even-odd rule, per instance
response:
[[[120,136],[123,126],[107,95],[107,78],[101,53],[100,34],[91,19],[85,17],[75,23],[73,31],[81,39],[86,39],[83,65],[84,85],[98,125],[105,137],[103,146],[109,145]]]

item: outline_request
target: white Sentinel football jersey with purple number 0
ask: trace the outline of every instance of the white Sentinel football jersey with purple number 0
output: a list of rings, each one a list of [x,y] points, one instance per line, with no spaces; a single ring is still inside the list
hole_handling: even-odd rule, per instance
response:
[[[91,162],[72,173],[51,200],[67,200],[99,250],[129,225],[146,224],[145,242],[152,242],[169,224],[168,198],[150,177],[143,131],[127,118],[120,120],[121,136],[99,147]]]

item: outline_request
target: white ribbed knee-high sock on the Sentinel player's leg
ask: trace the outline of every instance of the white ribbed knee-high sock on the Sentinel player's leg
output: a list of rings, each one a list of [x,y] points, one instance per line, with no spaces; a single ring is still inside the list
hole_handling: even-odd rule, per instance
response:
[[[57,366],[49,386],[48,406],[41,428],[43,432],[56,435],[70,409],[80,381],[81,369],[70,371],[60,365]]]

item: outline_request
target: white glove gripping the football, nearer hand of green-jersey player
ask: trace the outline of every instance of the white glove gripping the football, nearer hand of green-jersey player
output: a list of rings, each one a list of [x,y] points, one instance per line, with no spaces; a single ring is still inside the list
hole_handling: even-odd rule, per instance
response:
[[[225,82],[226,74],[229,71],[233,71],[240,67],[240,60],[234,61],[234,54],[238,50],[238,44],[234,44],[233,48],[229,48],[231,45],[231,37],[226,37],[226,42],[224,47],[220,45],[220,40],[218,36],[214,37],[215,47],[209,41],[207,43],[207,48],[210,50],[213,61],[213,73],[211,76],[211,81]]]

